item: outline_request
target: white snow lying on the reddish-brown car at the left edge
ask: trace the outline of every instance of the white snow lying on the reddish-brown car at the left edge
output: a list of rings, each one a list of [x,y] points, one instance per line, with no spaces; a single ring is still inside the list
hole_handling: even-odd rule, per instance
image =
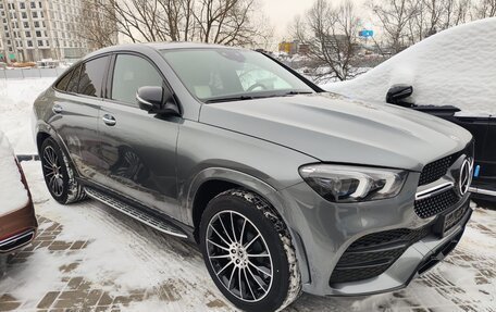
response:
[[[12,148],[0,132],[0,216],[25,207],[28,201]]]

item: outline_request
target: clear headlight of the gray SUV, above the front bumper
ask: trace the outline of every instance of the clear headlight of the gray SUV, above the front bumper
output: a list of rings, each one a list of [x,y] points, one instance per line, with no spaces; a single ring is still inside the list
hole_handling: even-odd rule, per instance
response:
[[[305,165],[299,173],[320,196],[333,202],[395,197],[408,176],[406,171],[400,170],[331,164]]]

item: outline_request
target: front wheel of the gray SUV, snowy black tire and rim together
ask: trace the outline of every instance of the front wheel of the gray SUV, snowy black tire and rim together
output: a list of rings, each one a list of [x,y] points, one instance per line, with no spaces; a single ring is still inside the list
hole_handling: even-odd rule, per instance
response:
[[[256,238],[257,233],[261,238]],[[201,217],[200,249],[213,282],[239,309],[275,311],[301,294],[301,277],[289,232],[275,209],[256,194],[231,189],[212,199]],[[238,252],[238,258],[233,255]],[[239,260],[241,262],[235,264]]]

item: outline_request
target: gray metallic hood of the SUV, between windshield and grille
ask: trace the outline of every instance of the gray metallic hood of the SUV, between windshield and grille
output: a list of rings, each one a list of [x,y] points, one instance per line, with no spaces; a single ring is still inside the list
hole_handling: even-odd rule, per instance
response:
[[[204,104],[200,122],[323,162],[412,171],[461,150],[472,138],[466,129],[432,115],[334,93]]]

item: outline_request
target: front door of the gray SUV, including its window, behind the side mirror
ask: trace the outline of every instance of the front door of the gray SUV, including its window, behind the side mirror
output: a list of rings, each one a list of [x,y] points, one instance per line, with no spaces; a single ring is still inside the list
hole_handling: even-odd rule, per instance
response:
[[[114,55],[98,120],[100,171],[107,176],[109,189],[181,219],[175,164],[182,118],[161,117],[140,110],[136,91],[142,86],[168,88],[161,72],[145,55]]]

